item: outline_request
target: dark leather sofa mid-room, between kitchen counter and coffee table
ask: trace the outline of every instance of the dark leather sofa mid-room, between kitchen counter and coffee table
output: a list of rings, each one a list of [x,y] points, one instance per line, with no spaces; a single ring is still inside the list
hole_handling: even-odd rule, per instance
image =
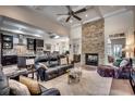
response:
[[[69,68],[72,68],[74,65],[72,64],[64,64],[61,65],[60,59],[65,58],[64,55],[49,55],[49,56],[38,56],[35,59],[35,67],[37,70],[37,78],[40,78],[39,71],[44,71],[40,67],[39,63],[45,63],[48,70],[46,70],[46,80],[52,79],[58,77],[68,72]]]

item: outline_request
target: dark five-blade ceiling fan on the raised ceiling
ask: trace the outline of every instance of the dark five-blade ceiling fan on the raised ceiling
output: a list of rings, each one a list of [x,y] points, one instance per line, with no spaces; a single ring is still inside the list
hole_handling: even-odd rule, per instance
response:
[[[57,14],[57,15],[69,15],[68,18],[65,20],[65,22],[69,22],[72,16],[74,18],[78,20],[78,21],[82,21],[82,18],[78,17],[76,14],[82,13],[82,12],[85,12],[86,11],[86,8],[83,8],[81,10],[78,10],[78,11],[75,11],[75,12],[71,9],[70,5],[66,5],[66,8],[69,10],[69,12],[66,14]]]

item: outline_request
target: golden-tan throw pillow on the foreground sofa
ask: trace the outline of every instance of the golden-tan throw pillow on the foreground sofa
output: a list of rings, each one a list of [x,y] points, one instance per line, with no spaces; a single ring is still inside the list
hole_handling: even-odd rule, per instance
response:
[[[32,78],[25,77],[25,76],[20,76],[20,81],[27,86],[30,94],[37,96],[37,94],[41,93],[38,81],[36,81]]]

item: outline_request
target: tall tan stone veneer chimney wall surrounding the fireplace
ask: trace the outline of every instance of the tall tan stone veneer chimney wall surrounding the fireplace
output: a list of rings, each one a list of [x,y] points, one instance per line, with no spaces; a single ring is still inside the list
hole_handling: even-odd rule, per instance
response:
[[[85,53],[98,53],[99,64],[105,63],[105,20],[86,23],[82,26],[82,60]]]

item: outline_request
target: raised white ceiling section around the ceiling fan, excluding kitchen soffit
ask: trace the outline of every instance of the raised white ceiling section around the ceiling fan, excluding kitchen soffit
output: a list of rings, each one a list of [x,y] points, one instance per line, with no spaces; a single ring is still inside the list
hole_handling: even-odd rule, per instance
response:
[[[87,11],[77,14],[82,18],[82,21],[77,21],[74,17],[71,17],[71,21],[65,23],[65,20],[69,15],[57,15],[57,14],[65,14],[68,13],[68,9],[64,5],[28,5],[26,8],[29,8],[32,10],[37,11],[38,13],[41,13],[48,17],[50,17],[52,21],[56,21],[57,23],[60,23],[61,25],[65,27],[75,26],[95,18],[100,17],[108,17],[113,14],[118,14],[121,12],[125,12],[127,10],[133,9],[134,7],[125,7],[125,5],[71,5],[73,11],[81,10],[83,8],[86,8]]]

